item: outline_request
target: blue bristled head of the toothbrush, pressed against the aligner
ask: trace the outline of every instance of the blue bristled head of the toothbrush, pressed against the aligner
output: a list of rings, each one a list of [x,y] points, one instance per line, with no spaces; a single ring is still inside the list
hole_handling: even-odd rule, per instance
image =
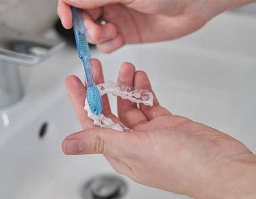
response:
[[[102,98],[100,91],[95,84],[88,86],[86,96],[92,113],[94,115],[100,115],[102,111]]]

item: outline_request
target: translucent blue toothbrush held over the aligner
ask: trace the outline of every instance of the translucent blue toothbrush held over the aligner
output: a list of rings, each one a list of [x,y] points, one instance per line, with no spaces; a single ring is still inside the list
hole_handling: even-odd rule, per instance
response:
[[[100,115],[102,111],[102,98],[100,91],[93,80],[92,68],[90,67],[90,50],[86,40],[84,23],[79,9],[72,7],[72,18],[73,18],[73,30],[76,38],[77,51],[79,57],[84,64],[86,80],[88,84],[86,96],[87,101],[94,115]]]

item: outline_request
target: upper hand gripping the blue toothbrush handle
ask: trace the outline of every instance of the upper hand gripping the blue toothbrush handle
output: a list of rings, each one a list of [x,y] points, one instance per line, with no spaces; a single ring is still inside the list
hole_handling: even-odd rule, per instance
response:
[[[211,18],[253,0],[59,0],[57,13],[72,28],[69,5],[82,10],[90,43],[110,53],[125,44],[158,42],[187,35]],[[98,23],[106,20],[104,26]]]

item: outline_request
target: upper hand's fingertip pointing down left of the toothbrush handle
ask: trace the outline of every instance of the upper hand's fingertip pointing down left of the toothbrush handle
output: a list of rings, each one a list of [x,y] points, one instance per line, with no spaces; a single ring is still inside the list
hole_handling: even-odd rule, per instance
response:
[[[73,26],[72,13],[70,6],[62,0],[59,0],[57,6],[57,14],[61,20],[61,24],[64,28],[70,29]]]

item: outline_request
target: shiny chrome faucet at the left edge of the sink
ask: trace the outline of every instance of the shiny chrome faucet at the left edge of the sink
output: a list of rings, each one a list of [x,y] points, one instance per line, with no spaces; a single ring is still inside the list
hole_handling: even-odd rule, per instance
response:
[[[36,65],[63,46],[63,42],[50,41],[0,24],[0,109],[23,96],[19,65]]]

